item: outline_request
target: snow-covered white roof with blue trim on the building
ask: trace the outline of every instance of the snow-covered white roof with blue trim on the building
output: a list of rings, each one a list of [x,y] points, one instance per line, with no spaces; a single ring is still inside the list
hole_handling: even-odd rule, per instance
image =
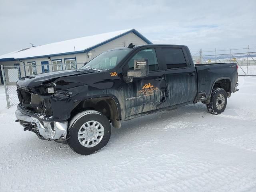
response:
[[[142,36],[138,31],[135,29],[126,29],[120,30],[115,32],[108,32],[98,35],[86,36],[66,41],[60,41],[56,43],[50,43],[46,45],[40,45],[30,48],[25,48],[21,50],[17,50],[8,54],[4,54],[0,56],[0,59],[5,58],[14,58],[14,59],[21,59],[21,58],[33,58],[33,57],[40,57],[40,56],[53,56],[53,55],[60,55],[60,54],[70,54],[70,53],[79,53],[84,52],[84,50],[89,50],[90,48],[94,48],[95,46],[127,34],[129,32],[134,32],[136,35],[140,36],[144,41],[148,44],[152,44],[149,40],[147,40],[144,36]]]

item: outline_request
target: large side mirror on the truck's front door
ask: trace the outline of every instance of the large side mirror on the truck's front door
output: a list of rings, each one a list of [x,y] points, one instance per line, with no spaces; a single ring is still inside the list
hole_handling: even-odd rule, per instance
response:
[[[135,77],[145,77],[148,75],[148,59],[140,58],[134,60],[134,70],[127,72],[127,76],[124,78],[126,83],[132,82]]]

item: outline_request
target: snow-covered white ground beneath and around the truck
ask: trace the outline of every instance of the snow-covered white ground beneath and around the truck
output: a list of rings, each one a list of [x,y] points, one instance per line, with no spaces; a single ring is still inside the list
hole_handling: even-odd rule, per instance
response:
[[[0,87],[0,191],[256,191],[256,77],[220,115],[192,104],[124,122],[90,156],[39,140]]]

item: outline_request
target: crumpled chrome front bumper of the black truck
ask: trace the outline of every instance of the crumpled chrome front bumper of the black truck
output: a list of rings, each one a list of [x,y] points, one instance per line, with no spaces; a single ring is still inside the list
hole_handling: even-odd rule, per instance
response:
[[[68,121],[49,122],[22,113],[19,109],[15,112],[16,118],[20,122],[30,122],[36,125],[40,136],[44,139],[65,140],[67,137]]]

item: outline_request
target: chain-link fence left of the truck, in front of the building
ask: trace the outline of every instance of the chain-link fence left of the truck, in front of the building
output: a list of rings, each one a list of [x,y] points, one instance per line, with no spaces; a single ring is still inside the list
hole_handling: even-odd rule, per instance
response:
[[[39,73],[60,70],[74,70],[84,66],[84,63],[71,64],[42,64],[42,65],[1,65],[2,81],[6,94],[7,108],[19,104],[16,82],[19,78]]]

